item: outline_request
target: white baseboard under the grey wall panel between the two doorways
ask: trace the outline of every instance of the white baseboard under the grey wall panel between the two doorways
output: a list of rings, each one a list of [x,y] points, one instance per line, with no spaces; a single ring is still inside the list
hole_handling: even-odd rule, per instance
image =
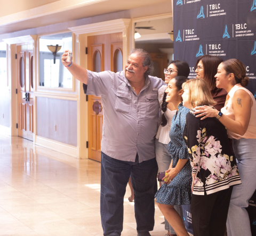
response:
[[[79,159],[78,148],[65,143],[57,142],[54,140],[46,139],[45,137],[35,135],[35,145]]]

